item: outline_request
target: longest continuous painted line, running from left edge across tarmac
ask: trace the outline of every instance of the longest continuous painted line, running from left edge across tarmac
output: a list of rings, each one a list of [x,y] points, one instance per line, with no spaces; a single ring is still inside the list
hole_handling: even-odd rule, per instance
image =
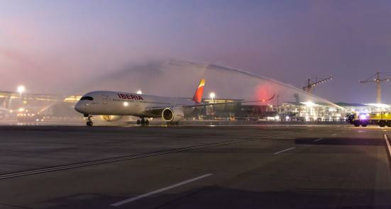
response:
[[[236,143],[262,140],[262,139],[271,138],[271,137],[278,137],[278,136],[282,136],[282,135],[287,135],[287,134],[270,135],[270,136],[264,136],[264,137],[248,137],[248,138],[243,138],[241,140],[233,140],[233,141],[228,141],[228,142],[219,142],[219,143],[214,143],[214,144],[199,145],[199,146],[194,146],[194,147],[184,147],[184,148],[177,148],[177,149],[167,149],[167,150],[163,150],[163,151],[150,152],[150,153],[146,153],[146,154],[136,154],[136,155],[130,155],[130,156],[125,156],[125,157],[101,159],[101,160],[92,161],[92,162],[82,162],[82,163],[68,164],[68,165],[63,165],[63,166],[53,166],[53,167],[48,167],[48,168],[44,168],[44,169],[35,169],[35,170],[30,170],[30,171],[15,172],[15,173],[11,173],[11,174],[2,174],[2,175],[0,175],[0,180],[14,178],[14,177],[18,177],[18,176],[43,174],[43,173],[48,173],[48,172],[52,172],[52,171],[60,171],[60,170],[65,170],[65,169],[76,169],[76,168],[80,168],[80,167],[94,166],[97,164],[120,162],[120,161],[129,160],[129,159],[153,157],[153,156],[158,156],[158,155],[162,155],[162,154],[170,154],[170,153],[175,153],[175,152],[185,152],[185,151],[194,150],[194,149],[203,149],[203,148],[208,148],[208,147],[232,145],[232,144],[236,144]]]

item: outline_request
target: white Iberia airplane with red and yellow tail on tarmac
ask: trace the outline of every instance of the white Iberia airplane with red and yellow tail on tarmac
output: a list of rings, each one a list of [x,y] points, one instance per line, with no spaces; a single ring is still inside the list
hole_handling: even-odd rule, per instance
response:
[[[119,91],[91,91],[84,94],[76,103],[75,110],[83,113],[87,118],[87,126],[92,126],[92,115],[106,116],[107,121],[117,120],[123,115],[132,115],[141,118],[138,125],[148,125],[145,118],[163,118],[167,123],[179,124],[185,118],[185,113],[191,113],[200,106],[221,105],[226,103],[248,103],[270,101],[274,98],[259,101],[237,101],[225,103],[201,103],[204,92],[205,79],[199,85],[192,99],[133,94]],[[104,117],[102,117],[104,118]]]

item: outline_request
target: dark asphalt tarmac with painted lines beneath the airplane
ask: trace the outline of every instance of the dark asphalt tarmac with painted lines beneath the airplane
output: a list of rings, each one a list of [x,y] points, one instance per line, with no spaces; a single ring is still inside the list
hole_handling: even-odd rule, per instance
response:
[[[391,128],[0,126],[0,208],[391,208]]]

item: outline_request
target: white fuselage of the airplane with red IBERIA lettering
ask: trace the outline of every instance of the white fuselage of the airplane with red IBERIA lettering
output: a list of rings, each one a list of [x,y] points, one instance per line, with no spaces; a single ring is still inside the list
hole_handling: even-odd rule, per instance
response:
[[[189,98],[172,98],[119,91],[92,91],[85,94],[75,105],[76,111],[89,115],[133,115],[160,118],[159,108],[183,108],[192,106]],[[191,111],[192,108],[189,108]],[[185,111],[185,110],[184,110]]]

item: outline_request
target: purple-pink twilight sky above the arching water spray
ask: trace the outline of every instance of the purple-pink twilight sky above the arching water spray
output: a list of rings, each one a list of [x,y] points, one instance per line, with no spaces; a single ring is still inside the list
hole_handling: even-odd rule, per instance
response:
[[[373,102],[391,71],[391,1],[0,0],[0,90],[67,86],[156,58],[208,62],[302,87],[330,101]],[[180,79],[180,78],[178,78]],[[383,84],[391,103],[391,82]]]

